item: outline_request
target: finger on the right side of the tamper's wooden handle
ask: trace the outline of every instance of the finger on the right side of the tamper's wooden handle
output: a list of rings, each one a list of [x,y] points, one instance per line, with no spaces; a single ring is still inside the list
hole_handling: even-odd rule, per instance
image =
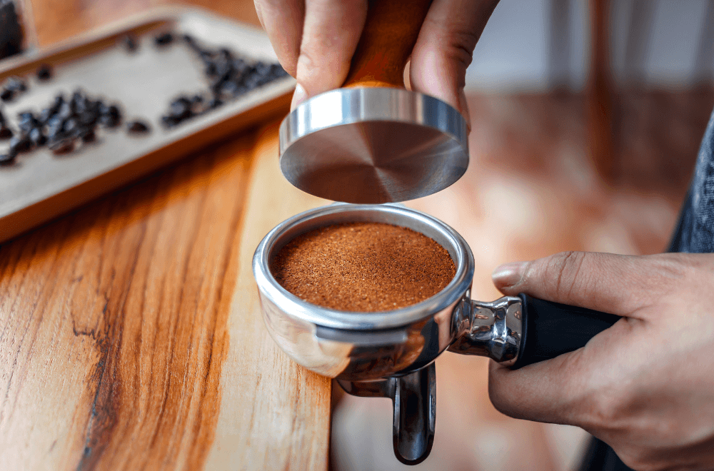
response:
[[[446,101],[467,122],[466,69],[497,4],[498,0],[435,0],[411,56],[412,89]]]

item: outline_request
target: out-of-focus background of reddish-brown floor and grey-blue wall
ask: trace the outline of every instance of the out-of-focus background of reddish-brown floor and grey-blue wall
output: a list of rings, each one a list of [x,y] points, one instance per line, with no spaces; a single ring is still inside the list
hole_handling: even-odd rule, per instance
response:
[[[47,46],[167,3],[26,0],[24,10],[31,43]],[[251,0],[188,3],[259,26]],[[713,75],[714,1],[501,0],[466,81],[468,172],[410,206],[466,238],[481,300],[498,298],[491,270],[507,261],[665,250],[714,104]],[[487,369],[481,358],[439,358],[436,442],[412,469],[576,469],[585,432],[501,415]],[[406,469],[391,450],[390,401],[334,388],[331,456],[336,471]]]

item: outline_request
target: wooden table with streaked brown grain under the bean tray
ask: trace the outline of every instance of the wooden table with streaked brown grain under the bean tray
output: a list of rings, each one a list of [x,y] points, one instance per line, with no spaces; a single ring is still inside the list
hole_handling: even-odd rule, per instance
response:
[[[39,41],[148,3],[36,0]],[[251,273],[322,203],[282,178],[277,124],[0,246],[0,469],[326,468],[331,383],[269,337]]]

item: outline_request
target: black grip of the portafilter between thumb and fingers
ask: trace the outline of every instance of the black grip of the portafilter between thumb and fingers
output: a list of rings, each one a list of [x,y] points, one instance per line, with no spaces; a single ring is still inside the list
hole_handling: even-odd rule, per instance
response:
[[[521,346],[517,369],[584,347],[620,320],[619,315],[532,298],[521,293]]]

